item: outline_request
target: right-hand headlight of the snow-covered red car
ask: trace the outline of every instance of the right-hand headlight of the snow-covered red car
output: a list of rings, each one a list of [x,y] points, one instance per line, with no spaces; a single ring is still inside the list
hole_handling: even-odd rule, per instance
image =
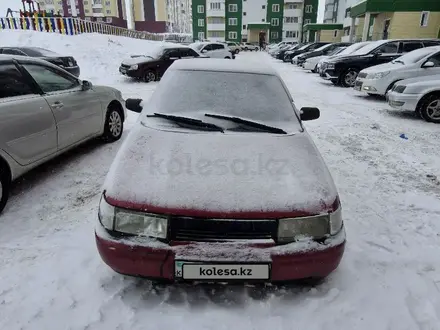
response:
[[[323,239],[342,229],[341,206],[332,213],[278,220],[278,242],[289,243],[301,238]]]

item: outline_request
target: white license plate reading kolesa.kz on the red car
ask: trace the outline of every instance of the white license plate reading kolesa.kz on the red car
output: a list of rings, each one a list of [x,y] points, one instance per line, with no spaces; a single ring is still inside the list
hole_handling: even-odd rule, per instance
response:
[[[176,277],[184,280],[268,280],[269,264],[224,264],[176,261]]]

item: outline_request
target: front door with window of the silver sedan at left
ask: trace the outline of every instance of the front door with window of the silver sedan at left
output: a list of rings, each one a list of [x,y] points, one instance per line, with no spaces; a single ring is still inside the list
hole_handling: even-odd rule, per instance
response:
[[[44,93],[58,127],[58,149],[68,148],[102,131],[104,113],[98,95],[83,90],[72,75],[40,63],[21,63]]]

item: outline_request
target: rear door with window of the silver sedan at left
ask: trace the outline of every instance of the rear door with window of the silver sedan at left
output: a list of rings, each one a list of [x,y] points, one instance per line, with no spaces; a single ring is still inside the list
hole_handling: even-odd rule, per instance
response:
[[[0,63],[0,148],[22,166],[57,151],[52,110],[12,61]]]

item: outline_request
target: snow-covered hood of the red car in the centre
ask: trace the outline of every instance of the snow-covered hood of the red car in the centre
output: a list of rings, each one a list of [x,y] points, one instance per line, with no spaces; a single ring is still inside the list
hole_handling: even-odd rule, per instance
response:
[[[169,132],[141,121],[121,146],[103,189],[116,205],[219,217],[317,214],[331,210],[337,199],[331,175],[306,132]]]

